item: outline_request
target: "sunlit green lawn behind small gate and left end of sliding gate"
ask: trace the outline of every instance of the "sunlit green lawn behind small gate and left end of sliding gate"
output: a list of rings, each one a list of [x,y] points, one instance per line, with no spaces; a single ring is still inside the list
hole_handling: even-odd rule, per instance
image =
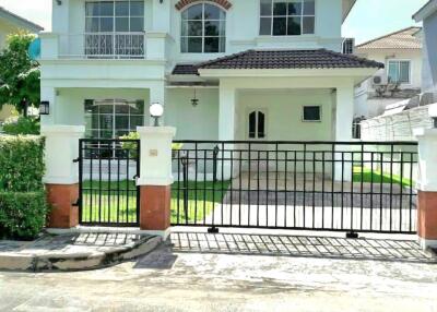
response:
[[[182,182],[180,184],[175,182],[172,185],[172,223],[191,224],[203,220],[212,212],[214,203],[222,202],[229,183],[229,181],[188,182],[188,185],[184,185]],[[84,223],[99,219],[103,223],[135,223],[137,191],[133,181],[110,183],[103,181],[101,184],[98,181],[85,181],[83,188]],[[188,190],[187,206],[184,200],[185,190]]]

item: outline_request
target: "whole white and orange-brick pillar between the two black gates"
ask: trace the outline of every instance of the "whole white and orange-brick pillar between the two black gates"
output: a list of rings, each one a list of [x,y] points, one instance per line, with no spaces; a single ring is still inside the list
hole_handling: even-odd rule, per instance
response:
[[[176,129],[139,127],[141,141],[140,228],[164,239],[170,228],[172,142]]]

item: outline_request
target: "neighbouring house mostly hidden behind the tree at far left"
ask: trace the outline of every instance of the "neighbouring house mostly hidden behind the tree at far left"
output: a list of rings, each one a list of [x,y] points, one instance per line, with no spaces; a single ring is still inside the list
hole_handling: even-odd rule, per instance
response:
[[[5,47],[8,35],[17,33],[19,31],[26,31],[36,34],[43,29],[42,26],[38,26],[0,7],[0,51]],[[0,122],[10,117],[11,113],[13,113],[13,106],[4,105],[0,110]]]

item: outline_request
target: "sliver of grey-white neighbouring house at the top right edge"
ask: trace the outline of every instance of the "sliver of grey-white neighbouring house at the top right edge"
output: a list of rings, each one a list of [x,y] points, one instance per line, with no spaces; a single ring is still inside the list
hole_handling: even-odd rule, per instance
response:
[[[437,0],[428,1],[413,19],[423,22],[421,37],[423,40],[422,89],[424,93],[437,92]]]

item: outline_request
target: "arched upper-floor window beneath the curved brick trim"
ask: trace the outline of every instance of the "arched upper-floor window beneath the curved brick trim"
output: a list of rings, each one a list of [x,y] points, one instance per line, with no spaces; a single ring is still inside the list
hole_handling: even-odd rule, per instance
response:
[[[214,4],[199,3],[182,12],[180,50],[182,53],[225,51],[226,12]]]

